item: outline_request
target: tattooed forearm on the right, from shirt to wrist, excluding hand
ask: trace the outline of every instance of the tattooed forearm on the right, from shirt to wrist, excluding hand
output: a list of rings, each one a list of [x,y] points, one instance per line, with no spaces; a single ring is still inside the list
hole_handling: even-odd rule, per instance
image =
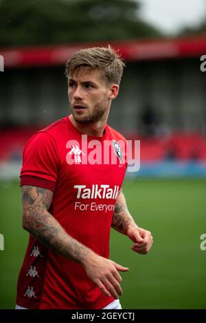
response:
[[[119,193],[115,203],[112,227],[113,229],[125,235],[127,235],[128,229],[130,227],[137,227],[133,216],[131,216],[130,212],[128,211],[126,199],[122,191]]]

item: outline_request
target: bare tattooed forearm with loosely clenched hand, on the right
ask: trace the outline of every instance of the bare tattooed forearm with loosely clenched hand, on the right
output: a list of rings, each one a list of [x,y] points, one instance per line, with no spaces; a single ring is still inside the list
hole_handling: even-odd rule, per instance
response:
[[[153,238],[151,232],[144,230],[135,223],[126,205],[126,199],[121,191],[115,203],[113,212],[113,229],[125,234],[133,241],[131,249],[139,254],[147,254],[152,247]]]

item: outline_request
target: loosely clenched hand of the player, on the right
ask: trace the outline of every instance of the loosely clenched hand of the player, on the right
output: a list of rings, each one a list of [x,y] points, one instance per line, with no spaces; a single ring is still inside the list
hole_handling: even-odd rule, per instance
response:
[[[150,231],[137,226],[129,227],[127,236],[134,242],[134,245],[131,247],[134,252],[148,254],[153,243],[153,237]]]

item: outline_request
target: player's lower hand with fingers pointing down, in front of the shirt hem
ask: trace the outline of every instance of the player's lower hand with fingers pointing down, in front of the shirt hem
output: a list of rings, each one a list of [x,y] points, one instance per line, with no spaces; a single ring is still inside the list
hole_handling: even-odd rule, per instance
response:
[[[122,295],[123,292],[120,286],[122,277],[119,275],[118,270],[128,271],[127,267],[122,267],[114,261],[97,254],[90,254],[83,266],[89,278],[100,287],[106,296],[111,297],[112,295],[115,299],[118,299]]]

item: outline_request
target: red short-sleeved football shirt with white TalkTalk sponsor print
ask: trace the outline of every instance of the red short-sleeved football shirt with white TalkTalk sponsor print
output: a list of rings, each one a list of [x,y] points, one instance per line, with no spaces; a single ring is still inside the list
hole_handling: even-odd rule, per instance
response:
[[[102,137],[82,136],[67,116],[35,133],[23,152],[21,186],[54,191],[48,211],[70,236],[105,258],[126,171],[125,144],[108,125]],[[89,279],[82,265],[30,235],[16,304],[28,309],[102,309],[113,300]]]

